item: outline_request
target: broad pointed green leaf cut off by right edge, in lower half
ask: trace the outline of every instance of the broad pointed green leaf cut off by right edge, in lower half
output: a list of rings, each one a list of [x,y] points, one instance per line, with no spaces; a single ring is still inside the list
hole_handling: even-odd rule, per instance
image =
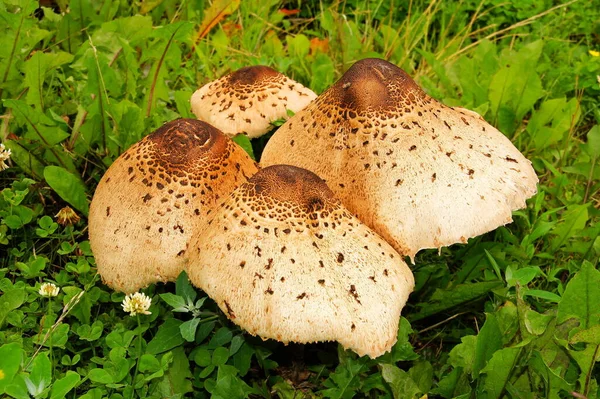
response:
[[[571,317],[579,319],[580,327],[587,329],[600,324],[600,271],[584,261],[581,270],[569,281],[558,304],[557,322]]]

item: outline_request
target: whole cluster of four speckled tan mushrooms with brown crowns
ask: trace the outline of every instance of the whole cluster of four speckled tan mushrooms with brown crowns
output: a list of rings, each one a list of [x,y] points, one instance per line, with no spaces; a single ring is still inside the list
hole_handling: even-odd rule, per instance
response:
[[[89,218],[98,272],[131,293],[185,270],[263,339],[382,355],[414,287],[403,256],[509,223],[536,192],[531,163],[502,133],[380,59],[320,96],[242,68],[191,106],[199,120],[166,123],[100,181]],[[263,135],[288,110],[260,166],[230,139]]]

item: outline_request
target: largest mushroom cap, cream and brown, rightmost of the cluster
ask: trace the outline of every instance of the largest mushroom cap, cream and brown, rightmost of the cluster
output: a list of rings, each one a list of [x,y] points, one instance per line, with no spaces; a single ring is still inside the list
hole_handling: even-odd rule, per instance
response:
[[[432,99],[380,59],[354,64],[277,130],[261,164],[279,163],[324,178],[411,258],[510,223],[538,181],[531,162],[481,116]]]

